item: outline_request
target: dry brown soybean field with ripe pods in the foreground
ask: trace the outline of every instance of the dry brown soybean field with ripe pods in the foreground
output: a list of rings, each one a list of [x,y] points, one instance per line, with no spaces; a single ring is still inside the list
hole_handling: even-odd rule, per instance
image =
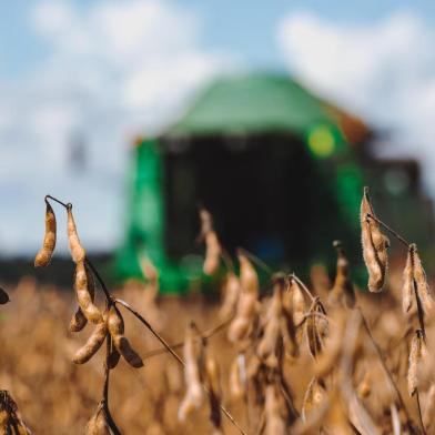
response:
[[[108,289],[71,204],[45,203],[36,266],[50,267],[65,212],[75,274],[69,291],[23,277],[9,303],[0,292],[0,434],[435,433],[433,294],[417,246],[375,215],[367,190],[367,292],[340,243],[334,280],[321,266],[306,283],[276,271],[260,289],[264,264],[240,250],[235,272],[203,210],[204,273],[227,267],[213,305],[160,299],[148,259],[145,284]],[[387,235],[403,245],[397,270]]]

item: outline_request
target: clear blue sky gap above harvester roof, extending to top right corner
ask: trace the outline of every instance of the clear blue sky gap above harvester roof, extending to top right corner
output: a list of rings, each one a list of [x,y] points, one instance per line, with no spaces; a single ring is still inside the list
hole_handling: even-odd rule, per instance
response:
[[[312,11],[332,22],[351,24],[372,23],[403,9],[435,20],[435,3],[431,1],[185,0],[180,3],[195,8],[204,18],[205,44],[237,51],[255,65],[276,68],[283,67],[275,41],[276,26],[283,16],[295,11]]]

